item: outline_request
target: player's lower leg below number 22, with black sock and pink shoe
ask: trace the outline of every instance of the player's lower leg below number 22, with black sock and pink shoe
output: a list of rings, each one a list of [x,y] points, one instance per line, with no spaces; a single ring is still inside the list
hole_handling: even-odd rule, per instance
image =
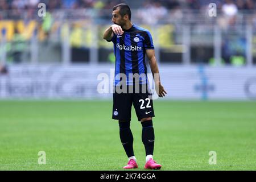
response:
[[[144,166],[145,169],[160,169],[162,166],[156,163],[153,160],[153,152],[154,152],[154,128],[152,124],[152,118],[142,118],[142,142],[144,144],[146,150],[146,164]]]

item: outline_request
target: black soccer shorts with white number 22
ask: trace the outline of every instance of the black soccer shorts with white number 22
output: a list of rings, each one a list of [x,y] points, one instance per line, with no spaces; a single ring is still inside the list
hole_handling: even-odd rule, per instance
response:
[[[126,86],[126,88],[126,93],[117,93],[116,90],[120,89],[120,86],[114,87],[112,118],[122,121],[131,121],[132,105],[136,111],[138,121],[141,121],[142,118],[155,117],[153,100],[150,97],[151,93],[148,92],[148,89],[142,90],[142,85],[139,86],[139,91],[138,89],[135,90],[136,87],[134,85]],[[131,92],[131,90],[133,90],[133,92]]]

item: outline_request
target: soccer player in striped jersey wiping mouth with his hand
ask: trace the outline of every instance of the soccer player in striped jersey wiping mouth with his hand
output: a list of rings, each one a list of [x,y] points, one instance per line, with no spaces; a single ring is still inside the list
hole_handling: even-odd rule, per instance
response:
[[[152,98],[149,97],[151,93],[148,89],[143,92],[145,86],[148,88],[146,54],[155,80],[155,86],[158,88],[156,89],[158,96],[164,97],[167,94],[160,82],[152,37],[148,30],[131,22],[131,10],[125,3],[114,6],[112,15],[114,24],[105,30],[103,38],[114,44],[114,88],[122,91],[125,88],[129,90],[128,93],[114,92],[113,94],[112,118],[118,120],[119,136],[128,156],[128,164],[123,168],[138,168],[133,151],[133,134],[130,130],[131,106],[134,105],[138,121],[142,125],[142,142],[146,150],[144,168],[160,169],[162,166],[153,160],[155,141],[152,125],[152,117],[155,117],[153,102]],[[139,77],[135,75],[139,75]]]

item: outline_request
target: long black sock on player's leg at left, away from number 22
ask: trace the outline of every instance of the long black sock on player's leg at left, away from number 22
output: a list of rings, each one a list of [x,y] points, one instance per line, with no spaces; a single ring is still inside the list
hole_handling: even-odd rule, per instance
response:
[[[125,148],[126,155],[128,158],[134,156],[133,152],[133,133],[131,133],[130,129],[130,121],[129,122],[121,122],[119,121],[119,135],[123,145]]]

